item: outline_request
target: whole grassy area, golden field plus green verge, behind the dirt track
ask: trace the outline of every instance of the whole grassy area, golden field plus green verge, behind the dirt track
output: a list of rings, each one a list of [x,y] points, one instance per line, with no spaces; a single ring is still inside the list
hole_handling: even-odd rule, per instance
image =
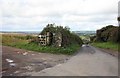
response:
[[[40,46],[35,43],[29,43],[30,39],[34,38],[25,35],[2,35],[2,45],[16,47],[20,49],[26,49],[37,52],[53,53],[53,54],[74,54],[80,49],[77,44],[70,45],[66,48],[63,47],[53,47],[53,46]]]

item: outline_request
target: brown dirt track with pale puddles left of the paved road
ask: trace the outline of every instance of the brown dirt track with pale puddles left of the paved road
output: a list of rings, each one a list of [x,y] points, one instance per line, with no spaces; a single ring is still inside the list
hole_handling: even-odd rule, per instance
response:
[[[8,46],[2,46],[2,75],[26,76],[26,72],[41,71],[66,62],[70,56],[32,52]],[[8,62],[7,60],[13,62]]]

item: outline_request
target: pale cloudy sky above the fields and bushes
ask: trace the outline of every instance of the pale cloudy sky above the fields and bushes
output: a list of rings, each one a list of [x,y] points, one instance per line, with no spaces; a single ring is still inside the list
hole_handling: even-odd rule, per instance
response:
[[[48,23],[72,31],[118,25],[119,0],[0,0],[2,31],[41,31]]]

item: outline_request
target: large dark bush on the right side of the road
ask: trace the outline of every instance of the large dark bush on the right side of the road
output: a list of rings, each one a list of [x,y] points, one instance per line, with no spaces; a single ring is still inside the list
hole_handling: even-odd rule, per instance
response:
[[[107,42],[107,41],[112,41],[112,42],[118,42],[118,29],[119,27],[117,26],[106,26],[103,27],[100,30],[97,30],[97,41],[102,41],[102,42]]]

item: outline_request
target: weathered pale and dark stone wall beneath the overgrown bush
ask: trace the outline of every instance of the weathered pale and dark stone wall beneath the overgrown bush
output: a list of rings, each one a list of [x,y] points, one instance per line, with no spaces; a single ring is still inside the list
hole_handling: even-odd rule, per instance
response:
[[[62,34],[60,32],[58,33],[50,33],[46,32],[46,34],[39,35],[39,44],[40,45],[54,45],[56,47],[62,46]]]

